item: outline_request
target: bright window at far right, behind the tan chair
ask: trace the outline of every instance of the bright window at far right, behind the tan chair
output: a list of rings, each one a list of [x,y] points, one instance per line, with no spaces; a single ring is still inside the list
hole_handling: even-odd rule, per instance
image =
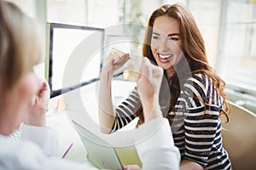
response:
[[[227,6],[219,72],[228,98],[256,112],[256,2],[232,0]]]

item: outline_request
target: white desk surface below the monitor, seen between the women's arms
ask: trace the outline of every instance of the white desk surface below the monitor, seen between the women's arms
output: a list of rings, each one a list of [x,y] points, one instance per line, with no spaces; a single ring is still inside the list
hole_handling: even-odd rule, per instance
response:
[[[117,105],[122,99],[125,99],[130,94],[131,89],[134,88],[134,82],[114,81],[113,87],[118,87],[113,90],[113,102]],[[93,90],[94,89],[94,90]],[[97,103],[96,103],[96,86],[95,84],[89,85],[83,89],[85,92],[83,95],[83,102],[87,102],[90,107],[88,112],[93,113],[92,119],[97,120]],[[86,95],[85,95],[86,94]],[[76,102],[76,101],[73,101]],[[88,103],[89,102],[89,103]],[[57,130],[59,135],[59,149],[58,156],[63,156],[68,146],[73,143],[72,148],[67,152],[65,159],[71,161],[79,161],[85,164],[85,167],[94,168],[94,166],[87,160],[87,151],[84,148],[84,144],[79,138],[79,134],[73,128],[73,125],[67,117],[67,111],[57,111],[56,99],[50,99],[49,111],[47,113],[47,123],[49,127],[53,127]],[[90,115],[91,116],[91,115]],[[134,127],[134,123],[128,128]],[[95,167],[95,169],[97,169]]]

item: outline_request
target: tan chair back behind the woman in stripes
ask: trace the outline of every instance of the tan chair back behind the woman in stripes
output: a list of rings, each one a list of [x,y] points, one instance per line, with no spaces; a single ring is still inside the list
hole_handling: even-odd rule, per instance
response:
[[[256,116],[232,102],[230,122],[222,119],[224,149],[235,170],[256,169]]]

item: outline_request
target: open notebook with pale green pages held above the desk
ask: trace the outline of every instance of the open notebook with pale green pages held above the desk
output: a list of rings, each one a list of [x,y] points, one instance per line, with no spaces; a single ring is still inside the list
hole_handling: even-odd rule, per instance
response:
[[[122,169],[125,165],[133,164],[142,167],[142,162],[137,155],[134,145],[114,147],[104,139],[82,127],[78,122],[72,122],[87,150],[88,161],[96,167],[100,169]]]

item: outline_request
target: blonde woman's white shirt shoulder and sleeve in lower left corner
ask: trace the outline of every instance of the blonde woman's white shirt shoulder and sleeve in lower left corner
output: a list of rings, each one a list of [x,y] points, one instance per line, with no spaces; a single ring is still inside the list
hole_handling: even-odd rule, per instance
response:
[[[0,170],[88,169],[82,163],[54,156],[58,141],[55,130],[23,125],[21,132],[20,141],[0,135]]]

